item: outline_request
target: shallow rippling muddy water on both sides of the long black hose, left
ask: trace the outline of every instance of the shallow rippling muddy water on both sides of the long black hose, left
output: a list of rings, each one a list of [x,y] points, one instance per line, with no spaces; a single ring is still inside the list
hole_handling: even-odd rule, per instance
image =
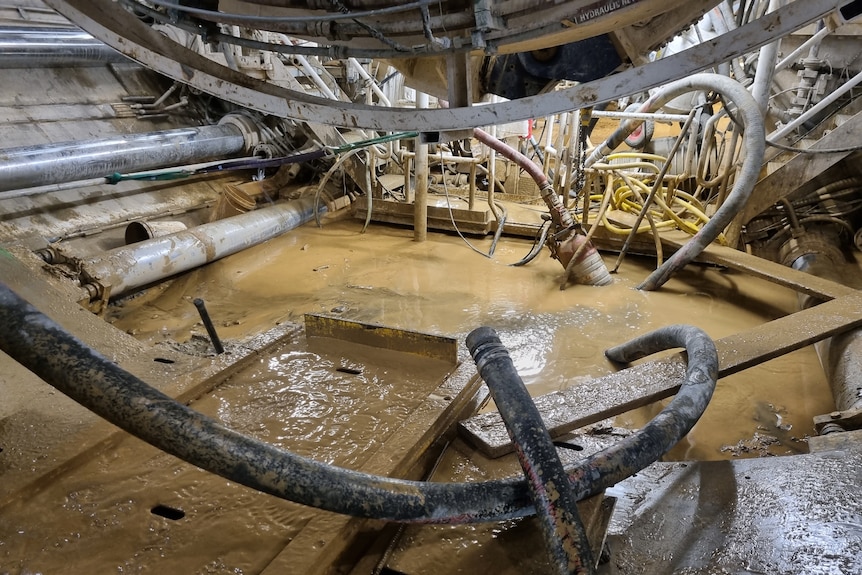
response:
[[[362,469],[450,370],[299,335],[192,407],[272,445]],[[125,433],[107,439],[108,448],[85,452],[17,498],[0,488],[0,573],[261,573],[309,523],[334,516],[206,473]]]

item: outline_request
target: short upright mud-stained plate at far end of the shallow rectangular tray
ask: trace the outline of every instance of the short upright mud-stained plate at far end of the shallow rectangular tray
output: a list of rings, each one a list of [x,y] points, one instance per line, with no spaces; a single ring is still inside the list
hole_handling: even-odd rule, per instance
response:
[[[306,337],[328,337],[352,343],[412,353],[458,363],[458,340],[454,337],[350,321],[324,314],[305,314]]]

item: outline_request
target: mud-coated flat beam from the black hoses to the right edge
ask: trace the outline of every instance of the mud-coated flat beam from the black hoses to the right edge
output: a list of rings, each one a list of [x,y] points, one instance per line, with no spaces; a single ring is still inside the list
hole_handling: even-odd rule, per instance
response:
[[[719,377],[725,377],[862,326],[862,292],[853,292],[715,342]],[[560,436],[626,411],[670,397],[685,375],[682,353],[537,397],[552,436]],[[462,421],[462,436],[488,457],[512,451],[499,413]]]

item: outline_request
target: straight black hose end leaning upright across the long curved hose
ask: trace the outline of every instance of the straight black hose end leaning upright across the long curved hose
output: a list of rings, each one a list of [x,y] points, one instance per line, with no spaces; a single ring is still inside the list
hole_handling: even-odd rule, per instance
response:
[[[515,444],[551,566],[559,575],[594,573],[590,543],[566,470],[509,352],[490,327],[470,332],[467,349]]]

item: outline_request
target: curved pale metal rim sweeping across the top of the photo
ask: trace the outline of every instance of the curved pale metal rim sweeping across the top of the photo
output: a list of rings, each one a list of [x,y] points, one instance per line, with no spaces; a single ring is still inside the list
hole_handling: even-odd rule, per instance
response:
[[[732,32],[646,66],[555,92],[485,106],[403,109],[317,98],[256,80],[165,38],[113,2],[46,0],[116,50],[170,78],[275,116],[348,128],[435,132],[539,118],[642,92],[751,52],[833,12],[848,0],[795,0]]]

